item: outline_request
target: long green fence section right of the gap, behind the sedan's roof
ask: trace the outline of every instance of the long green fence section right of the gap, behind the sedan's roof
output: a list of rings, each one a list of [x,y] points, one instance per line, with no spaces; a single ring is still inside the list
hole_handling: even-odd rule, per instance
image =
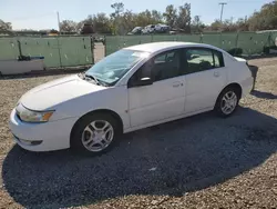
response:
[[[185,41],[207,43],[222,48],[230,53],[243,56],[261,54],[265,48],[275,46],[274,32],[229,32],[203,34],[153,34],[153,36],[122,36],[106,37],[105,54],[110,54],[124,47],[157,41]]]

